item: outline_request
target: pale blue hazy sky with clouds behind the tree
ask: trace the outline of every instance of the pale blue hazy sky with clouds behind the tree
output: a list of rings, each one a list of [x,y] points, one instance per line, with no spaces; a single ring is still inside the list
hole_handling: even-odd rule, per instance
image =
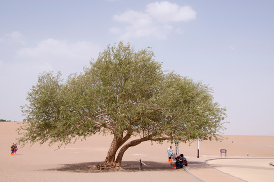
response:
[[[38,74],[81,72],[108,44],[151,47],[163,70],[209,84],[224,134],[273,135],[274,1],[0,1],[0,119]]]

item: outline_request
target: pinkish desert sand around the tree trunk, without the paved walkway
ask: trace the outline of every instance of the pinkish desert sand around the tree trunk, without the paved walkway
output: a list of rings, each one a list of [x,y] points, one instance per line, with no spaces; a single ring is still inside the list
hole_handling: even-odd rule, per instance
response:
[[[170,169],[166,148],[174,145],[167,142],[163,145],[145,142],[130,148],[123,157],[122,167],[125,170],[116,172],[90,171],[91,166],[104,161],[112,140],[111,136],[94,135],[86,141],[77,141],[59,150],[56,150],[57,145],[51,148],[39,144],[24,148],[18,146],[17,155],[10,156],[10,147],[18,137],[16,129],[19,126],[16,122],[0,122],[0,181],[166,181],[174,179],[177,175],[184,175],[188,181],[199,181],[184,170]],[[246,153],[249,153],[250,157],[274,157],[274,136],[224,137],[227,140],[222,142],[200,142],[199,159],[196,142],[190,146],[180,143],[179,150],[187,157],[189,168],[195,168],[197,171],[201,170],[206,159],[220,158],[220,149],[227,150],[227,158],[246,157]],[[136,159],[142,159],[147,164],[143,166],[143,171],[138,170],[139,162]],[[229,168],[231,164],[223,165]],[[265,175],[265,171],[259,170],[260,175]]]

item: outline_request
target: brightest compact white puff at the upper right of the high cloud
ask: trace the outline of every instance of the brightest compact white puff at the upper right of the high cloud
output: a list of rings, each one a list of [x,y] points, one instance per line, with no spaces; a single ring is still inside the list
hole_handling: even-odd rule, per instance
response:
[[[190,21],[196,17],[196,12],[190,6],[180,7],[167,1],[151,3],[146,11],[160,22]]]

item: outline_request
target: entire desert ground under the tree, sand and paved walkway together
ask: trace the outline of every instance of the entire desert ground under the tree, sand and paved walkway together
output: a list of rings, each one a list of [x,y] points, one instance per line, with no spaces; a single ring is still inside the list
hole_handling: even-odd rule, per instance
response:
[[[167,148],[150,142],[126,151],[122,167],[125,171],[92,173],[90,166],[101,164],[112,137],[94,135],[65,148],[35,144],[20,146],[16,156],[10,147],[18,137],[21,123],[0,122],[0,181],[274,181],[274,136],[224,136],[222,142],[179,144],[179,153],[187,157],[185,169],[171,169],[167,163]],[[220,156],[220,149],[227,154]],[[247,153],[249,157],[247,157]],[[139,170],[142,159],[147,165]],[[210,160],[214,159],[214,160]]]

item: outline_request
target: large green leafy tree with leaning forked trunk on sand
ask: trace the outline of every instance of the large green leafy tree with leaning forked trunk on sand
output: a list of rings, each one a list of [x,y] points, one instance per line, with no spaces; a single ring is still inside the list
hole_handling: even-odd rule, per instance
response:
[[[83,73],[39,75],[22,107],[27,124],[18,142],[69,144],[97,132],[113,140],[101,168],[120,167],[124,152],[145,141],[219,140],[225,109],[212,89],[163,72],[149,49],[119,42],[99,54]],[[23,132],[22,132],[23,130]],[[132,136],[138,136],[129,140]]]

